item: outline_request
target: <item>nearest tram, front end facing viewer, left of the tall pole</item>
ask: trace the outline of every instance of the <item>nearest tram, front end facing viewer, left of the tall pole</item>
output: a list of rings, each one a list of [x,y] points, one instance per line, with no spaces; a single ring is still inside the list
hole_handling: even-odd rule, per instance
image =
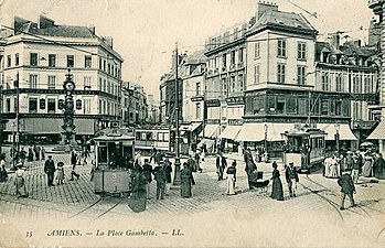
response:
[[[135,131],[111,128],[94,138],[95,169],[94,190],[96,194],[120,194],[131,192],[131,169],[135,157]],[[131,165],[132,165],[131,164]]]

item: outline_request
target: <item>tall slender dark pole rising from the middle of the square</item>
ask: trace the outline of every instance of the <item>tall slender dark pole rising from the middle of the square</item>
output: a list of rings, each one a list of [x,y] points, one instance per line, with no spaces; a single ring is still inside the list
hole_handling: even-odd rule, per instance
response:
[[[174,170],[174,180],[173,185],[181,184],[181,160],[179,154],[179,78],[178,78],[178,66],[179,66],[179,54],[178,54],[178,43],[175,43],[175,170]]]

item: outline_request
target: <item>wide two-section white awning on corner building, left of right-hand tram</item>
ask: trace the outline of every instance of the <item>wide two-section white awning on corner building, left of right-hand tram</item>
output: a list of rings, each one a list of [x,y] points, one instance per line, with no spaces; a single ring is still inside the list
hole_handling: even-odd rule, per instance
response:
[[[285,140],[281,133],[295,128],[293,123],[266,123],[267,141]],[[265,140],[265,123],[244,123],[240,128],[237,141],[263,141]]]

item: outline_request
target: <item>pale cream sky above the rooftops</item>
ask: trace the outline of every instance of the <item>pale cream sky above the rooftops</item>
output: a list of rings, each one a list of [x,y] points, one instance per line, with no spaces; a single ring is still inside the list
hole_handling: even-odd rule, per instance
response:
[[[257,0],[0,0],[0,24],[14,15],[38,21],[40,14],[64,25],[95,25],[96,34],[114,37],[124,57],[122,79],[143,85],[159,99],[160,77],[171,68],[175,43],[188,54],[204,48],[205,40],[248,21]],[[269,0],[279,10],[302,13],[320,34],[367,39],[374,17],[367,0]],[[295,4],[293,4],[295,3]],[[296,7],[300,6],[317,19]],[[362,30],[361,30],[362,29]],[[361,31],[360,31],[361,30]],[[343,34],[343,35],[345,35]],[[342,36],[343,36],[342,35]],[[324,36],[319,36],[324,40]]]

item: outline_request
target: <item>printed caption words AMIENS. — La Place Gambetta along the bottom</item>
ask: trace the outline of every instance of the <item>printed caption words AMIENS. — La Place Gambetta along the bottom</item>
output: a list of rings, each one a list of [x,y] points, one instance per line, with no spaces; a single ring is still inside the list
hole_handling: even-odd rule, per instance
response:
[[[87,233],[89,234],[89,233]],[[47,236],[60,236],[60,237],[69,237],[69,236],[83,236],[82,231],[78,229],[57,229],[52,230],[47,234]],[[95,233],[95,236],[115,236],[115,237],[121,237],[121,236],[157,236],[156,231],[153,230],[115,230],[115,229],[108,229],[108,230],[100,230],[97,229]]]

